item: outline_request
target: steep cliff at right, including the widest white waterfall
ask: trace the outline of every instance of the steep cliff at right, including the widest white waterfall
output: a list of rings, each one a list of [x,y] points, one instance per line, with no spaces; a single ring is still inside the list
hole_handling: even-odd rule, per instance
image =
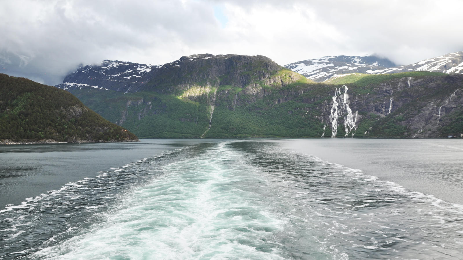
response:
[[[344,135],[413,138],[463,133],[463,129],[448,129],[461,118],[463,75],[408,76],[350,86],[350,94],[338,92],[336,97]],[[330,121],[333,116],[325,113],[323,118]]]

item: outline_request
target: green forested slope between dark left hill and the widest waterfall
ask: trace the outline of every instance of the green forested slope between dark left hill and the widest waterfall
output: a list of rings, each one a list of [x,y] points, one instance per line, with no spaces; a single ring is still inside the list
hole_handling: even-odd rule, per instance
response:
[[[285,97],[280,91],[299,90]],[[305,89],[305,90],[303,90]],[[130,129],[142,138],[319,137],[323,133],[319,108],[326,94],[321,83],[294,83],[288,87],[260,85],[248,88],[217,87],[181,98],[157,92],[126,93],[90,89],[73,92],[104,118]],[[259,96],[256,98],[256,96]],[[328,99],[329,97],[326,97]],[[214,111],[211,120],[211,105]],[[211,123],[211,129],[209,129]]]

